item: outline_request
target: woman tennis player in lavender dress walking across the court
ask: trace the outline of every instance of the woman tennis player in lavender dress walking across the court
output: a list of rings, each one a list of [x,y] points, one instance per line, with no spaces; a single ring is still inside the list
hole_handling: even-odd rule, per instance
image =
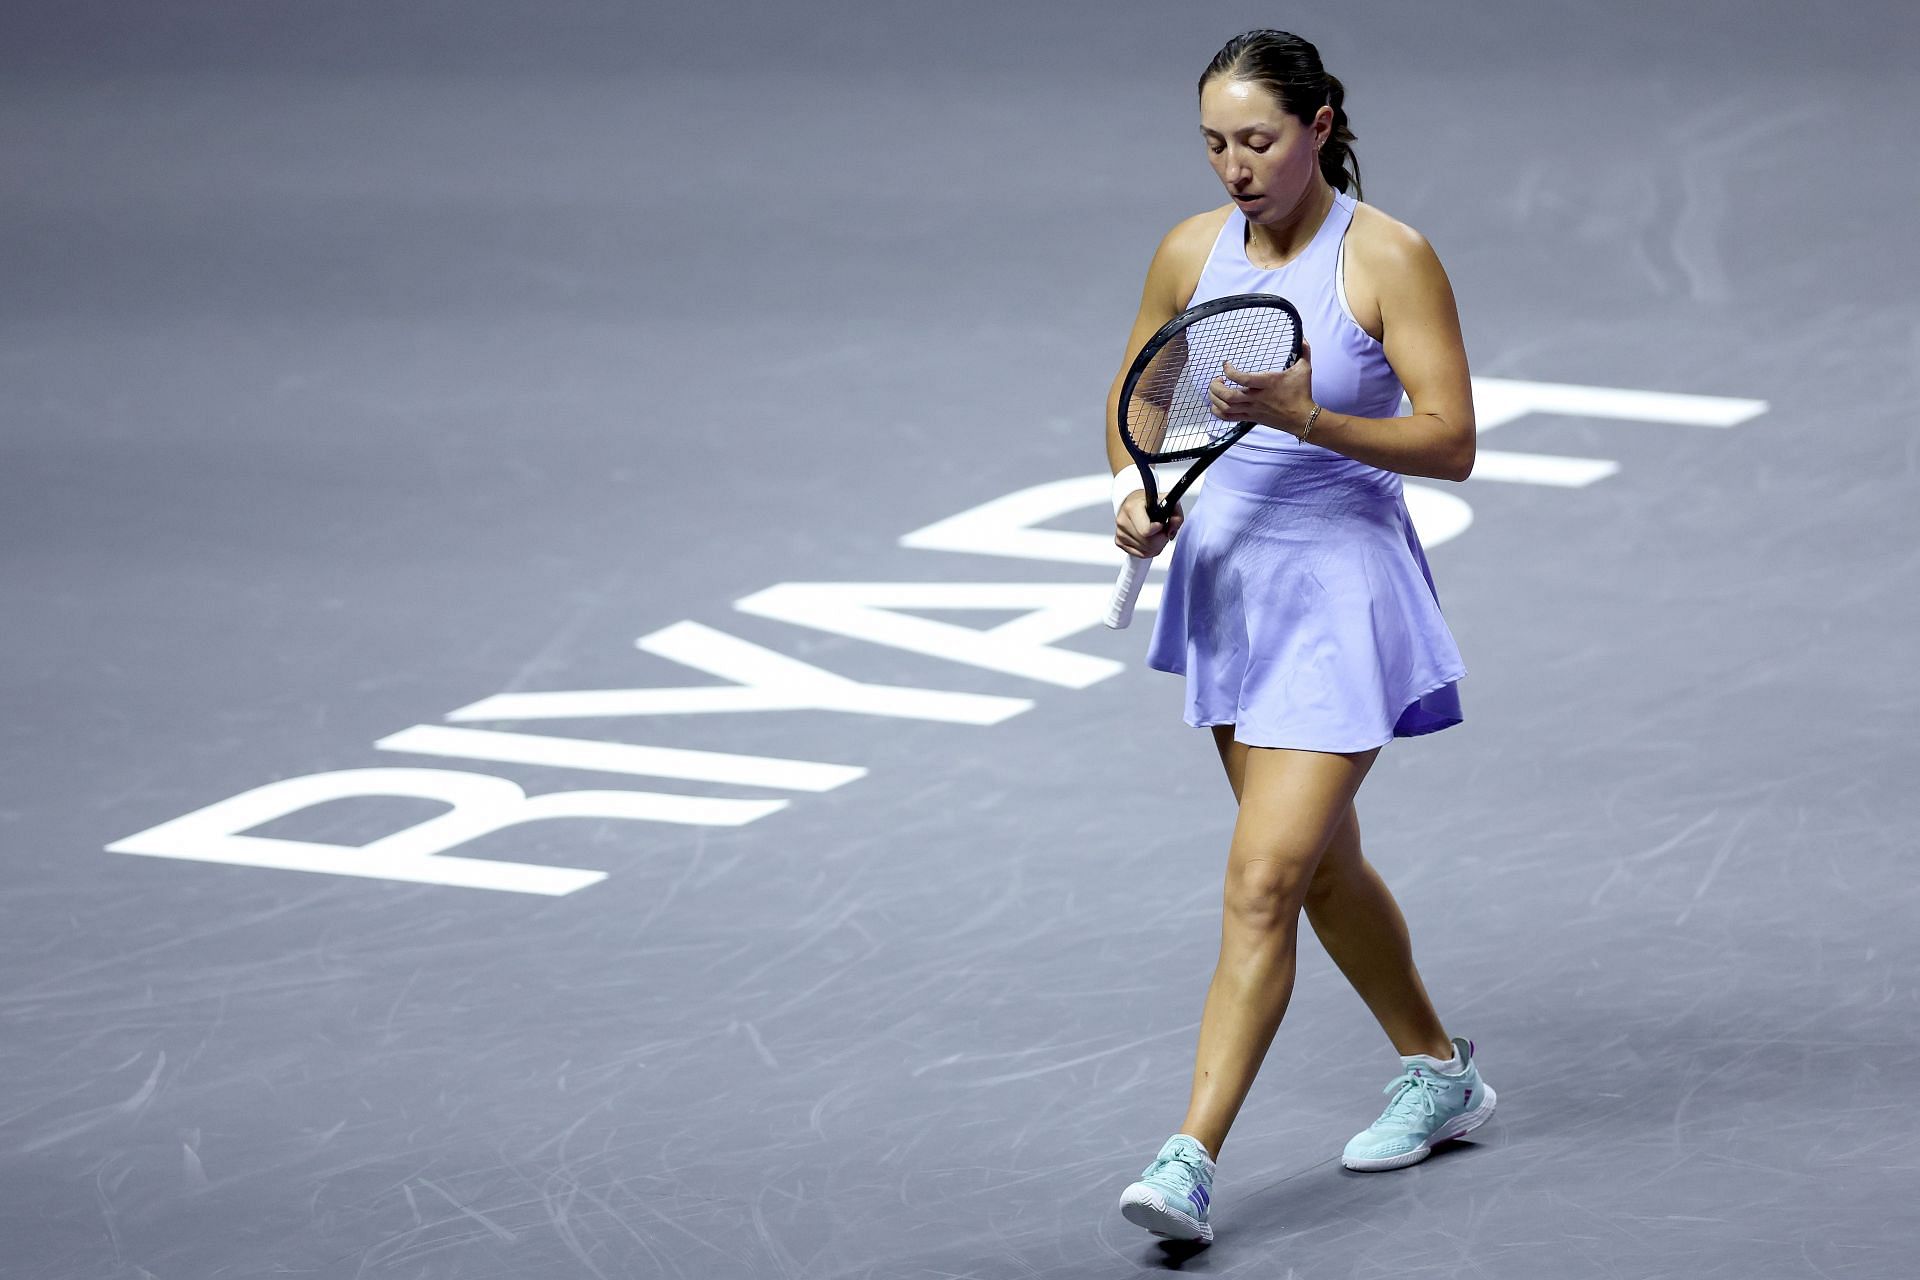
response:
[[[1119,378],[1108,397],[1114,541],[1152,557],[1173,539],[1146,660],[1187,677],[1185,720],[1213,731],[1238,800],[1187,1117],[1121,1196],[1127,1221],[1173,1240],[1213,1238],[1213,1161],[1286,1013],[1302,910],[1402,1063],[1342,1163],[1400,1169],[1494,1113],[1354,812],[1380,747],[1461,722],[1467,670],[1400,478],[1465,480],[1475,424],[1452,286],[1419,232],[1359,201],[1344,96],[1284,31],[1235,36],[1200,77],[1229,203],[1160,242],[1121,370],[1165,320],[1229,294],[1290,299],[1304,349],[1284,372],[1212,382],[1215,416],[1260,426],[1190,516],[1148,520],[1114,430]]]

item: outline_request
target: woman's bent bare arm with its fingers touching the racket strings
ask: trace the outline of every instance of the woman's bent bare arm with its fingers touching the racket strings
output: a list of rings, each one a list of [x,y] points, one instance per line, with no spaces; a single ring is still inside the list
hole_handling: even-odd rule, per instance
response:
[[[1413,413],[1404,418],[1359,418],[1321,409],[1308,443],[1346,457],[1434,480],[1465,480],[1473,472],[1473,380],[1459,336],[1453,286],[1427,238],[1398,223],[1380,228],[1367,246],[1367,274],[1380,282],[1380,347],[1400,376]],[[1279,374],[1227,374],[1213,380],[1213,415],[1229,422],[1261,422],[1300,436],[1313,415],[1311,347]]]

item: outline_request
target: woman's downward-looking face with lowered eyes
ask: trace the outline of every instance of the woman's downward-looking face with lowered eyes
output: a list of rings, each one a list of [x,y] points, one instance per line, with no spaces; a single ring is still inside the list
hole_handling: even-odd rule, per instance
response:
[[[1221,186],[1250,223],[1284,221],[1319,175],[1319,140],[1332,109],[1302,125],[1250,81],[1215,75],[1200,90],[1200,136]]]

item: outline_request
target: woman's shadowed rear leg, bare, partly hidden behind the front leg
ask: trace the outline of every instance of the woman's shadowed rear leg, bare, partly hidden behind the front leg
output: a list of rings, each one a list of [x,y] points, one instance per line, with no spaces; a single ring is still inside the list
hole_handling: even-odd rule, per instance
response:
[[[1427,998],[1427,984],[1413,967],[1413,944],[1400,904],[1359,852],[1359,814],[1352,804],[1308,885],[1306,912],[1321,946],[1373,1009],[1394,1052],[1432,1054],[1442,1061],[1453,1055],[1446,1027]]]

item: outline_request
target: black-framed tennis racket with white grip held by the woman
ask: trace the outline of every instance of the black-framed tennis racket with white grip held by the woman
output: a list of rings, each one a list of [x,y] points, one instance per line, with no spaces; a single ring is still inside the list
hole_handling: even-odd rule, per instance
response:
[[[1208,384],[1223,361],[1244,372],[1281,370],[1300,359],[1300,313],[1277,294],[1233,294],[1188,307],[1146,340],[1119,388],[1119,441],[1146,487],[1146,514],[1165,522],[1213,459],[1254,422],[1221,422],[1208,409]],[[1188,462],[1165,497],[1154,466]],[[1129,555],[1114,583],[1106,626],[1133,622],[1152,560]]]

